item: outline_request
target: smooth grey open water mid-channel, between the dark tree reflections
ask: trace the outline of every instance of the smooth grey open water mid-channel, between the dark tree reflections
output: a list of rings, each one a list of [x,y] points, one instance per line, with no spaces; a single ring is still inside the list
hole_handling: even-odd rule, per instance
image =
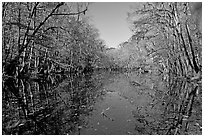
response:
[[[110,79],[111,82],[99,89],[106,94],[102,100],[96,102],[94,111],[88,118],[88,126],[80,133],[140,134],[135,124],[141,123],[137,118],[144,118],[144,114],[148,113],[147,109],[151,108],[155,95],[155,81],[148,78],[148,75],[141,78],[133,73],[117,74]]]

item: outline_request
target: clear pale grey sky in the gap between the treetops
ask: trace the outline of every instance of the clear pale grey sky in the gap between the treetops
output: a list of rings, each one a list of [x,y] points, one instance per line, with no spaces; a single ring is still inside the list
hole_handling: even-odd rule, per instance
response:
[[[127,23],[127,11],[132,3],[126,2],[96,2],[89,7],[88,16],[91,23],[99,29],[100,38],[107,47],[117,47],[127,41],[131,31]]]

